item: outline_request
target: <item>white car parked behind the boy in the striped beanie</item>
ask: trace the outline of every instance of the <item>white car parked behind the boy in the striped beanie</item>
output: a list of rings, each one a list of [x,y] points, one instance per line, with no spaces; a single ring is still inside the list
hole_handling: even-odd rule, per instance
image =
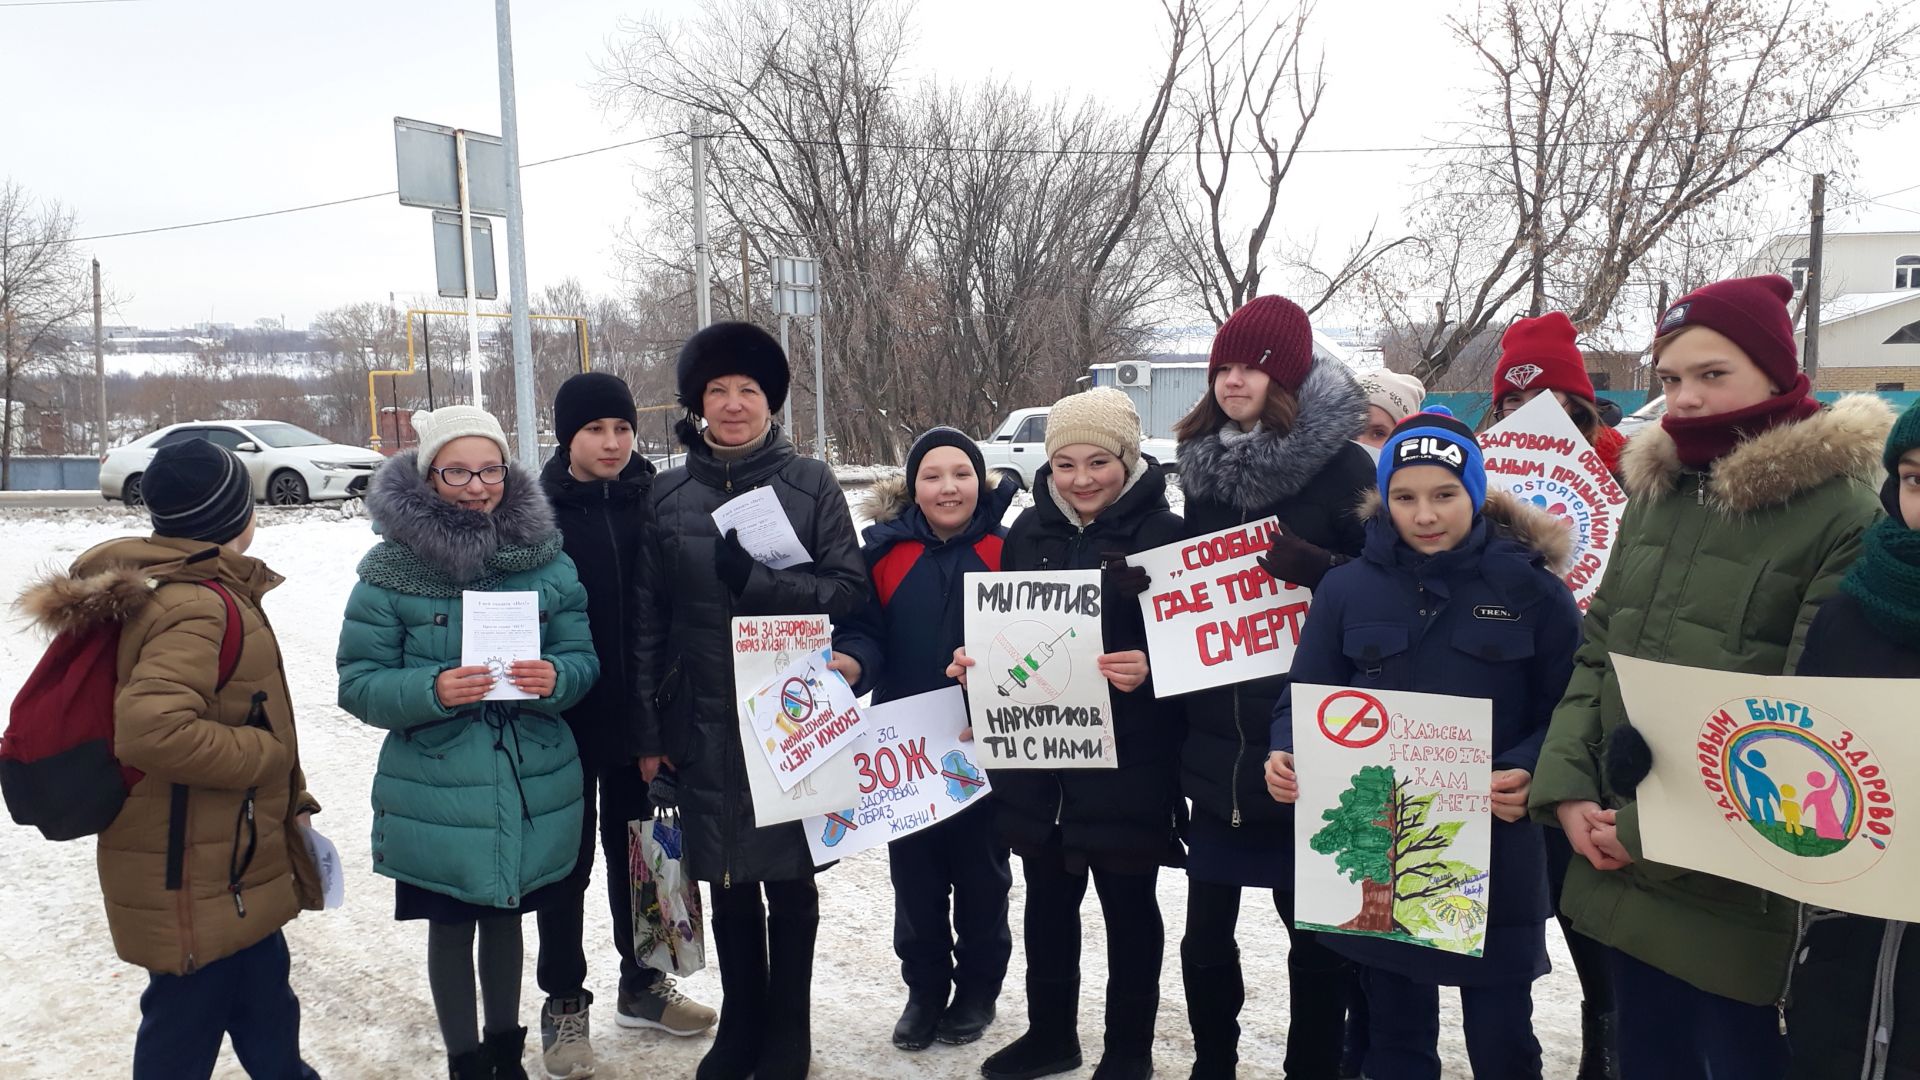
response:
[[[108,450],[100,459],[100,494],[142,505],[140,473],[154,452],[190,438],[238,454],[253,477],[253,498],[271,505],[365,496],[372,471],[386,461],[374,450],[328,442],[282,421],[190,421]]]

